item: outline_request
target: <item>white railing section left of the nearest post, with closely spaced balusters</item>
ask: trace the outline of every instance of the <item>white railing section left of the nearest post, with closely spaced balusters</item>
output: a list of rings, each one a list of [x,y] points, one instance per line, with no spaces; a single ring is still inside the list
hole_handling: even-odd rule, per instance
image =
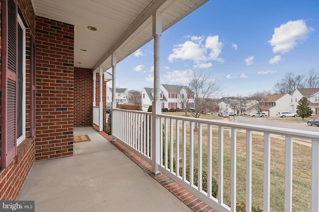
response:
[[[152,113],[113,109],[114,135],[147,162],[152,162]]]

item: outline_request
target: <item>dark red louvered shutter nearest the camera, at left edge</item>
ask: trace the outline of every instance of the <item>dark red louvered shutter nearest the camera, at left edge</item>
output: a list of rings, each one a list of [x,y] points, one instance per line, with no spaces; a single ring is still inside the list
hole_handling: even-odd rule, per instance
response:
[[[1,169],[16,155],[17,128],[17,4],[1,1]]]

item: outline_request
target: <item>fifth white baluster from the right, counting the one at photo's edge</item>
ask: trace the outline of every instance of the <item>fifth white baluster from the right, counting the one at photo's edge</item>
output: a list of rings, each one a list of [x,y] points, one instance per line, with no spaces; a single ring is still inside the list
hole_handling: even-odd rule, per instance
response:
[[[230,187],[231,187],[231,200],[230,200],[230,205],[231,205],[231,211],[235,212],[236,211],[236,181],[237,181],[237,167],[236,167],[236,158],[237,158],[237,138],[236,138],[236,133],[237,129],[236,128],[231,128],[231,182],[230,182]]]

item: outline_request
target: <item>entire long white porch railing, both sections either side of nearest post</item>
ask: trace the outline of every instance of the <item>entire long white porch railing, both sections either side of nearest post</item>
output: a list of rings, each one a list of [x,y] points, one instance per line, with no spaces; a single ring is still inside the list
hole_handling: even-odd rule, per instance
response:
[[[114,110],[114,112],[116,117],[115,137],[151,163],[152,114],[126,110]],[[284,177],[282,177],[284,178],[284,195],[281,196],[284,198],[284,210],[292,211],[293,142],[296,139],[311,141],[312,153],[310,154],[312,156],[311,171],[309,171],[311,173],[311,183],[309,182],[311,198],[308,199],[311,199],[311,210],[319,211],[319,133],[163,114],[158,115],[158,118],[160,118],[161,129],[156,130],[162,132],[158,152],[160,154],[159,170],[217,211],[236,211],[239,185],[244,185],[244,202],[247,212],[251,211],[254,198],[252,194],[260,193],[260,191],[263,198],[261,207],[264,211],[271,210],[271,164],[274,163],[274,161],[271,163],[271,151],[274,151],[271,149],[271,144],[275,142],[275,138],[278,139],[276,142],[285,143],[282,149],[285,161]],[[196,127],[198,132],[194,132]],[[257,145],[256,143],[259,143],[259,148],[261,148],[262,154],[259,156],[254,155],[257,150],[253,146]],[[238,153],[237,145],[244,148],[240,150],[245,155],[244,171],[242,171],[243,167],[238,168],[242,164],[237,161],[242,160],[243,157]],[[253,164],[256,157],[261,160],[263,171],[260,191],[254,191],[252,187],[253,181],[256,180],[253,179]],[[230,164],[228,164],[228,158]],[[203,179],[204,170],[207,171],[207,178],[205,177],[207,180]],[[237,170],[240,173],[237,173]],[[187,175],[186,172],[189,174]],[[239,181],[237,175],[242,172],[245,173],[245,179]],[[213,195],[214,177],[218,181],[217,195]],[[225,189],[225,183],[227,186],[230,185],[228,186],[230,191]],[[203,185],[207,185],[207,188],[204,188]],[[227,199],[227,205],[225,199]],[[305,210],[309,209],[305,208]]]

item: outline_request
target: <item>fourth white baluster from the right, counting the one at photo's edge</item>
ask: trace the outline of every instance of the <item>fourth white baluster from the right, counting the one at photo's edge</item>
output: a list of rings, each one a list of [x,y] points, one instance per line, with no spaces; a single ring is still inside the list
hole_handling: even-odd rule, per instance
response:
[[[246,212],[251,212],[252,193],[252,132],[246,131]]]

